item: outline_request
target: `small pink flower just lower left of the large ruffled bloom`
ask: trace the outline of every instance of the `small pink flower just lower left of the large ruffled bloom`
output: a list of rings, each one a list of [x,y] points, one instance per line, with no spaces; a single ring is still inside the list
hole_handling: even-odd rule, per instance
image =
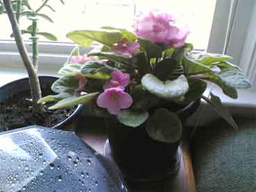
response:
[[[125,38],[120,42],[117,42],[117,45],[111,46],[111,51],[126,56],[133,55],[137,49],[139,49],[139,44],[137,42],[128,42]]]

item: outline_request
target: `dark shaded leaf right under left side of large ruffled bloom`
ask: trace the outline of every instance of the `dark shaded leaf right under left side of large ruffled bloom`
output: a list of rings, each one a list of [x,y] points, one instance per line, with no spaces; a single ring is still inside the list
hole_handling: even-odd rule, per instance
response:
[[[140,45],[140,48],[146,52],[146,55],[148,58],[161,58],[162,57],[162,49],[157,44],[154,44],[153,42],[138,38],[138,42]]]

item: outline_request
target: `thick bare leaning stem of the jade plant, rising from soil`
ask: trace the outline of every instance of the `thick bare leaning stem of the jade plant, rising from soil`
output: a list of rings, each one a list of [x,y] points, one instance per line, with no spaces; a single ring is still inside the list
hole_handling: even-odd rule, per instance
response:
[[[21,33],[21,30],[19,29],[19,24],[15,17],[15,12],[13,12],[12,10],[11,0],[3,0],[3,3],[4,3],[4,6],[6,7],[6,12],[8,14],[8,17],[12,26],[12,32],[15,36],[15,42],[17,44],[19,54],[21,55],[22,61],[24,63],[24,67],[28,72],[29,85],[31,88],[31,96],[33,101],[33,110],[35,110],[35,112],[38,112],[42,110],[42,105],[37,104],[37,101],[40,98],[42,98],[42,94],[41,94],[39,78],[37,76],[37,70],[33,66],[33,63],[29,58],[26,46],[22,40],[22,33]]]

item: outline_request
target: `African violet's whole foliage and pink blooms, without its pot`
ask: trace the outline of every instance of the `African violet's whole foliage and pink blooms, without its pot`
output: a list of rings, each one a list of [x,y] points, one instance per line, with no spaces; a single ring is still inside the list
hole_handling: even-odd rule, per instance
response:
[[[68,33],[80,46],[99,42],[101,47],[87,55],[74,49],[59,71],[63,77],[52,85],[56,95],[40,103],[56,101],[51,110],[85,104],[95,116],[116,116],[123,125],[146,122],[153,139],[174,142],[180,139],[182,125],[163,106],[170,102],[185,106],[203,98],[237,128],[218,96],[203,96],[207,81],[231,98],[237,98],[236,89],[250,87],[239,67],[229,62],[230,56],[194,52],[185,43],[187,28],[179,27],[172,15],[147,12],[135,18],[133,27],[134,33],[113,27]]]

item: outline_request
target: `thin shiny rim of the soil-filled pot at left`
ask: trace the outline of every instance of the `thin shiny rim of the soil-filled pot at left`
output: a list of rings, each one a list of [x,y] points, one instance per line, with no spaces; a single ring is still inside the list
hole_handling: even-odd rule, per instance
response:
[[[54,76],[54,75],[39,75],[38,77],[39,77],[39,78],[60,78],[60,76]],[[19,78],[19,79],[17,79],[17,80],[13,80],[13,81],[8,82],[8,83],[6,83],[5,85],[1,86],[0,89],[6,88],[6,87],[8,87],[8,86],[10,86],[10,85],[12,85],[12,84],[14,84],[14,83],[16,83],[16,82],[19,82],[19,81],[21,81],[21,80],[26,80],[26,79],[28,79],[28,76],[27,76],[27,77],[24,77],[24,78]],[[69,117],[67,117],[67,118],[64,119],[63,121],[60,121],[60,122],[57,123],[56,125],[53,125],[53,126],[50,127],[50,128],[58,129],[58,128],[60,128],[62,125],[65,125],[65,124],[69,123],[72,119],[74,119],[74,117],[75,117],[76,115],[78,115],[78,113],[82,110],[82,107],[83,107],[83,105],[81,105],[81,104],[78,105],[78,106],[76,107],[76,110],[74,110],[74,112],[73,112]]]

